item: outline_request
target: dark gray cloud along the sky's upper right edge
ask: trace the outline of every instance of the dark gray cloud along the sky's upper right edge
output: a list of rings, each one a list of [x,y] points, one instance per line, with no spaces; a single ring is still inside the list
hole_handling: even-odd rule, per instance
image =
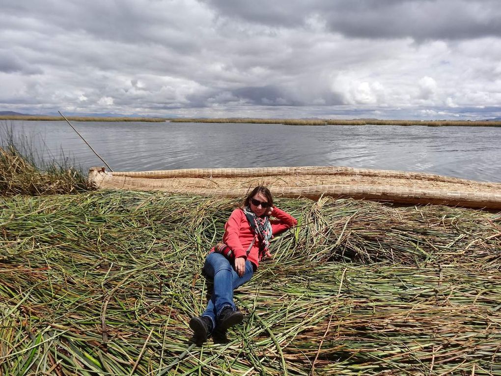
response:
[[[222,17],[297,28],[315,20],[357,38],[463,39],[501,36],[496,0],[207,0]]]

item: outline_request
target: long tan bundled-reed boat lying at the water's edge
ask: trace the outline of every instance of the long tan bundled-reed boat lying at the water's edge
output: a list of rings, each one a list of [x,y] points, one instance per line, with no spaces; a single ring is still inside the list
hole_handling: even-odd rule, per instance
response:
[[[166,191],[172,194],[241,197],[258,184],[276,197],[350,197],[397,204],[501,209],[501,183],[421,172],[339,166],[188,168],[110,172],[92,167],[97,189]]]

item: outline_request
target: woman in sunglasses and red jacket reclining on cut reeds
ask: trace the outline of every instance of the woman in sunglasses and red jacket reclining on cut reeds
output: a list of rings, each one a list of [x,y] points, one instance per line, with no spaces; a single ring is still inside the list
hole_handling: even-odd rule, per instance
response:
[[[275,217],[270,220],[269,217]],[[291,215],[273,206],[270,190],[257,186],[245,199],[244,207],[235,209],[224,225],[224,244],[210,250],[204,272],[214,281],[207,308],[199,317],[191,318],[190,328],[196,342],[203,342],[215,330],[224,333],[240,323],[241,312],[233,303],[233,290],[247,282],[258,269],[263,256],[269,256],[270,239],[298,223]],[[217,252],[216,252],[217,251]],[[234,255],[228,259],[222,253]]]

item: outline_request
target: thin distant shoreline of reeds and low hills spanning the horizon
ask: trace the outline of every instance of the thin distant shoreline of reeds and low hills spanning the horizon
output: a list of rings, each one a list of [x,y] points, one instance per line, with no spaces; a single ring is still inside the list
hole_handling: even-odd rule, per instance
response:
[[[172,123],[234,123],[234,124],[283,124],[283,125],[421,125],[421,126],[470,126],[501,127],[501,121],[489,120],[381,120],[381,119],[256,119],[256,118],[159,118],[159,117],[95,117],[67,116],[72,121],[96,122],[172,122]],[[60,116],[0,115],[0,120],[64,121]]]

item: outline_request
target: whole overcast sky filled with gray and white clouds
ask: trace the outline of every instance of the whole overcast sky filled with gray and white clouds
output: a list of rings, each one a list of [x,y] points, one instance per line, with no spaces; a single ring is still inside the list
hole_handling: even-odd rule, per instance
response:
[[[3,0],[0,111],[501,116],[499,0]]]

